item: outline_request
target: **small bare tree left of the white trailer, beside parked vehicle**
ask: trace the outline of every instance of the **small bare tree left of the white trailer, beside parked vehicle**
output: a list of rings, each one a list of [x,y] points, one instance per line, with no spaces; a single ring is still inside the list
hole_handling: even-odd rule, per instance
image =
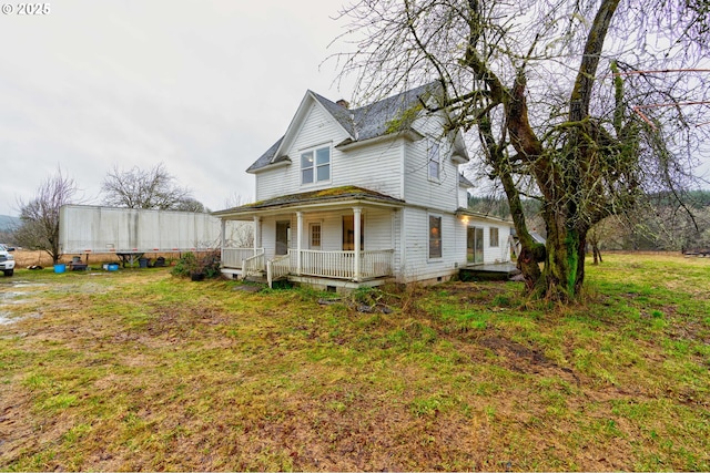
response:
[[[29,203],[19,202],[21,225],[16,230],[16,241],[30,249],[47,251],[57,264],[61,255],[59,245],[59,210],[62,205],[72,204],[79,188],[74,179],[57,169],[37,189],[37,197]]]

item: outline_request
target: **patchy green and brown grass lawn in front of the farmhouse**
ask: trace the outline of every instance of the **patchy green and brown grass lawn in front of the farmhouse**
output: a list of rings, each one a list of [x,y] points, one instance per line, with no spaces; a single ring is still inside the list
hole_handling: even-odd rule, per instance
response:
[[[0,469],[710,470],[710,258],[610,255],[588,280],[567,308],[505,282],[323,304],[21,269],[0,278]]]

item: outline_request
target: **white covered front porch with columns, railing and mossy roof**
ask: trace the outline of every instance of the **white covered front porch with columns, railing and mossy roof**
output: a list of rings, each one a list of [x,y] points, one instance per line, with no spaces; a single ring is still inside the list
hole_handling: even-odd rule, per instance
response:
[[[346,187],[283,196],[215,213],[251,220],[254,246],[222,240],[222,270],[236,278],[280,279],[358,287],[396,273],[395,218],[403,205],[371,191]],[[315,193],[317,194],[317,193]]]

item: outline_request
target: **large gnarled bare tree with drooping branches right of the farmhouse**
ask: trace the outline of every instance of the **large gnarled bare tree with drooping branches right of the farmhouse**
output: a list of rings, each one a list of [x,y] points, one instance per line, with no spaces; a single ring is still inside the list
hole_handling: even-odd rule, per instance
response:
[[[476,133],[527,287],[542,297],[574,299],[589,228],[646,192],[678,189],[701,158],[704,0],[361,0],[343,14],[355,48],[335,58],[357,74],[356,100],[437,81],[429,110]],[[529,194],[542,203],[545,247],[527,228]]]

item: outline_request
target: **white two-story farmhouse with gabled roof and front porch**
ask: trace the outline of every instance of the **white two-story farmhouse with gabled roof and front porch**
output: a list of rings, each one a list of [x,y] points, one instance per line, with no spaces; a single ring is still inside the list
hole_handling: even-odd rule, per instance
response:
[[[463,135],[445,132],[434,84],[359,109],[306,92],[286,133],[247,173],[254,247],[223,241],[223,273],[323,289],[448,280],[510,259],[510,223],[466,210]]]

